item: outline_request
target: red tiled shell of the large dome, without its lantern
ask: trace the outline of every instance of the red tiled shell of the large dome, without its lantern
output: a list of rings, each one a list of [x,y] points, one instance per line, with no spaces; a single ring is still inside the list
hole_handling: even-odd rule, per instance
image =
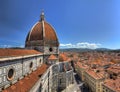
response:
[[[44,29],[42,22],[37,22],[31,31],[28,33],[26,41],[36,41],[36,40],[43,40],[43,36],[45,33],[45,40],[52,40],[57,41],[57,35],[54,29],[51,27],[50,24],[44,21]]]

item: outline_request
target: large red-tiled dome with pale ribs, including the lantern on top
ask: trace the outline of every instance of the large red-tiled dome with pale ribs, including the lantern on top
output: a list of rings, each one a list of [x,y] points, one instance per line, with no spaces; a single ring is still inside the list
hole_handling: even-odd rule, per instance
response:
[[[26,45],[31,41],[44,41],[46,44],[59,45],[58,38],[53,27],[44,20],[44,13],[41,19],[30,30],[26,38]],[[48,43],[49,42],[49,43]]]

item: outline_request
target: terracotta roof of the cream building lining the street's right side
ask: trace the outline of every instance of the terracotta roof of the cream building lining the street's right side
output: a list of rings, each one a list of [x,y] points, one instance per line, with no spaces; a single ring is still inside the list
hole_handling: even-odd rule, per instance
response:
[[[92,76],[94,79],[103,79],[104,78],[104,71],[98,69],[89,69],[86,70],[87,74]]]

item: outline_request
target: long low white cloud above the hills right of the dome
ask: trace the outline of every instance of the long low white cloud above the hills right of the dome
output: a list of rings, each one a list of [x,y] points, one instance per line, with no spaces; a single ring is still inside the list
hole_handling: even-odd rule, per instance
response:
[[[90,48],[90,49],[96,49],[99,48],[101,44],[99,43],[88,43],[88,42],[79,42],[76,44],[60,44],[61,48]]]

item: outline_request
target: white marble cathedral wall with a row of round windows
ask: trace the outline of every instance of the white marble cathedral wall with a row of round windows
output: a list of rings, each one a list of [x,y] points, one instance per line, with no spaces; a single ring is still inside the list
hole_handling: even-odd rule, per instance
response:
[[[0,61],[0,90],[16,83],[43,63],[43,56],[28,56]]]

